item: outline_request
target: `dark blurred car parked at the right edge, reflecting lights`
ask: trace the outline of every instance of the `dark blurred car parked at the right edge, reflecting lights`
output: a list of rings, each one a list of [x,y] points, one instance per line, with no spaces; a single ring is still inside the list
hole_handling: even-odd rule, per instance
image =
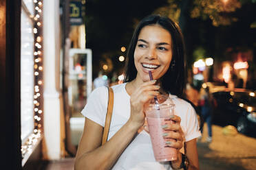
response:
[[[234,125],[237,131],[248,134],[256,130],[256,95],[246,89],[220,90],[212,93],[217,101],[213,123]]]

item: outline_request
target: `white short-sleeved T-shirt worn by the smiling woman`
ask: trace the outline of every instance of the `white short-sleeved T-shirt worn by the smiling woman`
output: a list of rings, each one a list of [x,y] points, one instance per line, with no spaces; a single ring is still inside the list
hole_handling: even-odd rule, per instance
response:
[[[111,87],[114,90],[114,107],[108,140],[114,136],[118,130],[120,130],[122,125],[128,121],[130,116],[130,96],[125,90],[125,85],[126,83]],[[175,95],[170,95],[170,97],[175,104],[175,114],[181,118],[180,125],[184,132],[185,142],[190,141],[193,138],[198,138],[198,136],[201,135],[198,126],[198,119],[191,104]],[[88,119],[104,127],[107,113],[107,102],[107,88],[96,88],[89,96],[88,103],[82,110],[82,114]],[[165,170],[171,169],[171,166],[169,165],[169,162],[156,162],[153,156],[150,136],[143,130],[139,134],[136,134],[134,140],[131,141],[125,151],[123,151],[112,169]]]

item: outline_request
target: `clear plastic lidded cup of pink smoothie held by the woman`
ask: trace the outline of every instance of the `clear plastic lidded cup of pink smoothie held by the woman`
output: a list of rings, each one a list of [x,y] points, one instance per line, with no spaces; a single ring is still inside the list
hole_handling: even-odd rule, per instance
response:
[[[154,101],[145,110],[153,153],[158,162],[177,160],[177,149],[166,144],[167,141],[174,141],[174,139],[162,136],[162,134],[168,132],[162,128],[162,125],[173,123],[170,117],[174,114],[173,108],[175,105],[169,97],[160,97],[158,101],[160,101],[160,110],[157,110]]]

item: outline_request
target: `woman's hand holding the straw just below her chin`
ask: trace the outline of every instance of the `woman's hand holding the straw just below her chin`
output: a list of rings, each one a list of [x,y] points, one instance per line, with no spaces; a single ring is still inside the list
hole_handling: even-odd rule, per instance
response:
[[[159,95],[160,86],[156,85],[156,80],[144,82],[131,93],[131,115],[129,121],[140,128],[145,123],[144,106],[154,96]]]

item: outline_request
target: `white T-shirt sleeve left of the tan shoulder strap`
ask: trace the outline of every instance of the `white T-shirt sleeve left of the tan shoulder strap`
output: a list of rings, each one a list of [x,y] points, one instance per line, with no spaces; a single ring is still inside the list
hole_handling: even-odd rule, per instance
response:
[[[107,113],[107,100],[107,87],[101,86],[99,88],[96,88],[89,95],[87,104],[85,105],[85,108],[83,108],[81,113],[88,119],[104,127],[105,117]]]

